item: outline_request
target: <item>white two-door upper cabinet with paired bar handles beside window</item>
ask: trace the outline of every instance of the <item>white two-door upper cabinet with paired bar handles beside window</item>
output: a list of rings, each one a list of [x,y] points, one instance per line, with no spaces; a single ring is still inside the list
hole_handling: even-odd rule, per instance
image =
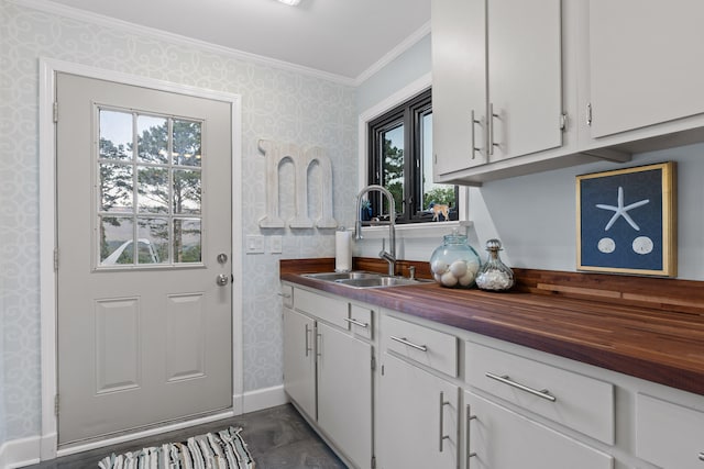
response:
[[[433,0],[438,180],[562,145],[560,0]]]

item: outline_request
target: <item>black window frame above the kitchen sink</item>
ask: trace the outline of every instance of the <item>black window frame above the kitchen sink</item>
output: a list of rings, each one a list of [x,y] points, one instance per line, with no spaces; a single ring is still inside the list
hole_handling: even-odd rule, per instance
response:
[[[396,223],[413,224],[428,222],[419,215],[424,206],[424,118],[432,113],[432,88],[427,87],[400,103],[387,109],[366,122],[366,182],[385,186],[383,180],[383,135],[400,125],[404,127],[404,193],[402,206],[396,206]],[[376,197],[374,197],[376,196]],[[378,194],[370,198],[374,213],[383,203]],[[454,220],[461,219],[460,190],[454,186]]]

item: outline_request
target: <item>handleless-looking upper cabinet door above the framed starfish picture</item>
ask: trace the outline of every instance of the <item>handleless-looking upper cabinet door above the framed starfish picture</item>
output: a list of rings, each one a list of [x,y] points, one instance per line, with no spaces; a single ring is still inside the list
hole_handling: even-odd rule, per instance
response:
[[[593,137],[704,112],[704,2],[590,0]]]

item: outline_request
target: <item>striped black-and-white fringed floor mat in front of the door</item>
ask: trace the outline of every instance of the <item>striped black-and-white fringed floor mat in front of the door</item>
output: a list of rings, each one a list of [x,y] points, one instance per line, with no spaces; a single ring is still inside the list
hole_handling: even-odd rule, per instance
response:
[[[194,436],[183,443],[167,443],[134,453],[108,456],[101,469],[253,469],[254,460],[240,436],[230,427]]]

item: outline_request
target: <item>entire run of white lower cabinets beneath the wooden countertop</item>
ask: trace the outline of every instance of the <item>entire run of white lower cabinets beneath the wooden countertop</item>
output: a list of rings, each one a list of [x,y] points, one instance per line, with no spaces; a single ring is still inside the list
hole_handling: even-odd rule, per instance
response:
[[[283,295],[286,393],[352,468],[704,469],[701,395],[310,289]]]

